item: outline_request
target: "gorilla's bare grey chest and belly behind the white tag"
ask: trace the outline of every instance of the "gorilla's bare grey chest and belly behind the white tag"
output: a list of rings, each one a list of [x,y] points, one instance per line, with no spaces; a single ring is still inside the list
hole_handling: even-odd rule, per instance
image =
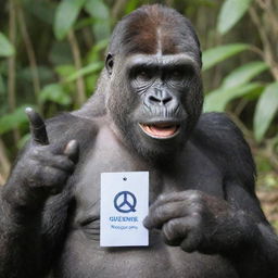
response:
[[[97,141],[93,151],[87,152],[75,185],[76,212],[60,265],[60,269],[71,265],[71,276],[58,270],[58,277],[236,277],[229,276],[230,266],[222,257],[169,248],[160,231],[150,231],[147,248],[100,248],[101,173],[149,172],[150,203],[162,193],[187,189],[223,195],[222,176],[205,157],[191,150],[175,163],[176,167],[156,168],[114,140]],[[222,265],[218,270],[217,265]]]

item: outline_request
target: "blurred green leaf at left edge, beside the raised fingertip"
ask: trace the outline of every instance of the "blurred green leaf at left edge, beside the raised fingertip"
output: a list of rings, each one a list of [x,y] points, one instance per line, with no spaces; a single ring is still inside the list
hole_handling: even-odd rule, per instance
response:
[[[30,106],[31,105],[24,105],[17,108],[14,112],[0,117],[0,135],[9,132],[14,128],[17,128],[21,125],[27,123],[28,119],[25,113],[25,109]]]

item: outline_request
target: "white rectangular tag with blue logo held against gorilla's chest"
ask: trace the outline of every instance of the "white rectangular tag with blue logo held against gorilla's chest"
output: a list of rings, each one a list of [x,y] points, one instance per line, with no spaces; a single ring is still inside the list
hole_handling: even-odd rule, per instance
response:
[[[101,247],[149,245],[149,172],[101,174]]]

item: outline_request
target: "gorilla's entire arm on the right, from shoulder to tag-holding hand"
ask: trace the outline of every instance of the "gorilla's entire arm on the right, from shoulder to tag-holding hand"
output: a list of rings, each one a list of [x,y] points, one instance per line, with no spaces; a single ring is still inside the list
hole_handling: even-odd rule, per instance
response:
[[[255,197],[253,160],[240,130],[226,116],[210,113],[191,140],[224,174],[225,198],[199,190],[162,195],[146,227],[161,229],[167,244],[186,252],[228,257],[240,277],[278,277],[278,239]]]

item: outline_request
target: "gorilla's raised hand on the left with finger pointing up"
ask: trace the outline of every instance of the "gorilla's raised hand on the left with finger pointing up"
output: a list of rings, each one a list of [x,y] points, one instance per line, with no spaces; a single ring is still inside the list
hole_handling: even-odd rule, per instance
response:
[[[31,206],[63,189],[75,168],[78,143],[71,140],[62,148],[49,143],[43,119],[33,109],[26,109],[26,113],[31,141],[8,181],[5,199],[13,204]]]

